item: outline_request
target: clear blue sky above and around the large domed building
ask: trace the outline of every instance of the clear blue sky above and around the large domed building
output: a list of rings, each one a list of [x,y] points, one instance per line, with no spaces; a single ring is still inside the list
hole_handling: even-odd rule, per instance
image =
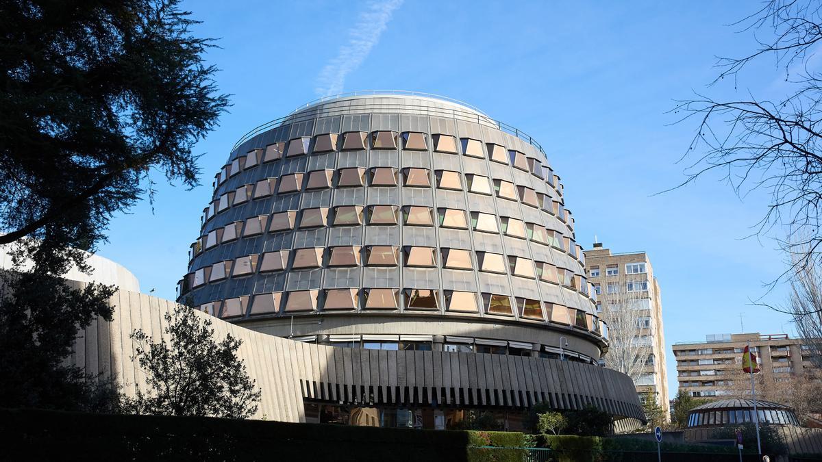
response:
[[[686,165],[676,162],[695,125],[674,123],[678,116],[667,112],[675,99],[695,91],[718,99],[784,92],[773,60],[750,67],[739,90],[731,82],[706,86],[717,73],[716,55],[755,46],[750,34],[727,24],[757,5],[187,2],[183,7],[204,21],[197,32],[220,38],[221,49],[207,58],[222,70],[217,83],[233,106],[196,146],[203,186],[187,191],[155,175],[154,213],[143,202],[118,215],[99,254],[132,270],[144,292],[174,298],[211,181],[234,141],[321,95],[329,69],[344,62],[347,73],[336,85],[343,91],[447,95],[538,140],[565,183],[577,241],[590,248],[596,235],[612,252],[648,252],[662,287],[667,344],[738,332],[740,313],[746,331],[792,333],[787,316],[750,305],[784,270],[773,241],[745,239],[767,196],[742,201],[718,176],[654,196],[685,178]],[[395,9],[378,35],[365,24],[386,19],[380,7]],[[364,12],[373,14],[363,21]],[[359,46],[340,60],[352,37]],[[785,293],[780,286],[764,300],[778,303]],[[673,395],[670,348],[667,363]]]

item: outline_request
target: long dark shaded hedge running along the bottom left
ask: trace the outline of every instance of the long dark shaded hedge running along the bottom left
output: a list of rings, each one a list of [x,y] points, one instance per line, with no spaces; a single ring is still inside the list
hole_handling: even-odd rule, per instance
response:
[[[467,432],[0,409],[2,460],[468,460]]]

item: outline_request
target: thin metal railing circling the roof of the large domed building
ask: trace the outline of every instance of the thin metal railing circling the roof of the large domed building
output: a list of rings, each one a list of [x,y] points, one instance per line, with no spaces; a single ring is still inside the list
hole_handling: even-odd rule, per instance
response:
[[[446,97],[443,97],[443,96],[430,95],[430,94],[426,94],[426,93],[419,93],[419,92],[413,92],[413,91],[404,92],[402,90],[367,90],[367,91],[364,91],[364,92],[359,91],[359,92],[347,93],[347,94],[342,94],[342,95],[334,95],[334,96],[324,97],[324,98],[321,98],[321,99],[316,99],[315,101],[312,101],[311,103],[307,103],[303,106],[300,106],[298,109],[294,109],[294,111],[292,113],[289,113],[289,115],[287,115],[287,116],[284,116],[284,117],[281,117],[281,118],[275,118],[274,120],[272,120],[270,122],[262,123],[261,125],[258,125],[257,127],[252,128],[252,130],[250,130],[245,135],[240,137],[240,139],[236,143],[234,143],[234,146],[232,146],[232,148],[231,148],[231,152],[233,152],[239,146],[241,146],[242,143],[245,143],[246,141],[252,139],[254,136],[256,136],[256,135],[258,135],[262,132],[266,132],[266,131],[271,130],[273,128],[281,127],[283,125],[290,124],[290,123],[293,123],[293,122],[301,122],[302,120],[307,120],[307,119],[310,119],[310,118],[314,118],[316,116],[316,113],[312,113],[312,112],[308,111],[308,109],[318,108],[319,106],[321,106],[321,104],[326,104],[326,103],[329,103],[329,102],[334,101],[336,99],[344,99],[344,98],[348,98],[348,97],[351,97],[351,96],[363,96],[363,95],[375,95],[375,96],[377,96],[377,95],[389,95],[389,96],[390,95],[406,95],[406,96],[412,95],[412,96],[422,96],[422,97],[425,97],[425,98],[432,98],[432,99],[442,99],[442,100],[450,102],[450,103],[460,104],[460,105],[462,105],[462,106],[464,106],[468,109],[471,109],[471,112],[461,110],[461,109],[456,109],[456,108],[452,108],[452,109],[433,108],[433,107],[428,107],[428,106],[419,106],[419,105],[415,105],[415,104],[376,104],[376,103],[372,103],[372,104],[352,104],[352,105],[344,106],[344,107],[341,107],[341,108],[335,108],[335,109],[323,109],[322,116],[323,117],[329,117],[329,116],[333,116],[333,115],[336,115],[336,114],[356,113],[356,111],[358,109],[362,109],[363,111],[366,110],[366,109],[377,109],[377,110],[383,110],[383,111],[389,110],[389,109],[396,109],[398,111],[406,111],[406,112],[409,112],[409,113],[425,113],[427,115],[432,115],[432,116],[436,116],[436,117],[450,117],[450,118],[463,120],[463,121],[466,121],[466,122],[477,122],[481,125],[486,125],[487,127],[493,127],[493,128],[496,128],[497,130],[499,130],[501,132],[506,132],[509,135],[516,136],[520,140],[525,141],[529,145],[537,148],[537,150],[543,155],[543,157],[545,157],[547,159],[547,155],[545,154],[545,151],[543,150],[543,146],[540,146],[540,144],[536,140],[534,140],[533,137],[531,137],[528,134],[520,131],[519,128],[513,127],[513,126],[507,124],[506,122],[501,122],[501,121],[498,121],[496,119],[488,117],[485,113],[483,113],[483,111],[474,108],[470,104],[466,104],[466,103],[464,103],[462,101],[459,101],[457,99],[450,99],[450,98],[446,98]]]

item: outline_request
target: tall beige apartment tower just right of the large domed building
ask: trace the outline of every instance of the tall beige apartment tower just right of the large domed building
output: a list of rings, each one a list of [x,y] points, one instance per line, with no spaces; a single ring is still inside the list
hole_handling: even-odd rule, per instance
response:
[[[637,315],[635,328],[621,330],[621,335],[630,335],[631,342],[641,345],[644,353],[647,353],[641,374],[635,379],[636,390],[638,393],[653,393],[668,418],[671,405],[668,400],[663,306],[659,284],[653,275],[648,254],[612,253],[610,249],[604,248],[602,243],[594,243],[593,249],[585,251],[584,254],[589,280],[593,284],[593,292],[598,297],[598,315],[607,319],[609,309],[618,309],[625,303],[632,303],[637,307],[633,312]],[[612,351],[609,354],[617,353],[613,350],[615,344],[618,344],[614,339],[615,335],[620,334],[612,328]],[[627,346],[633,347],[633,343]]]

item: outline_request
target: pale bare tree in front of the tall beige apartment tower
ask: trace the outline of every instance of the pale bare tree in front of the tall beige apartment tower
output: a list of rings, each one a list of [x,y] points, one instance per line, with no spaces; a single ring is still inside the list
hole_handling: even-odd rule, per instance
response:
[[[608,326],[608,352],[603,357],[605,366],[622,372],[637,383],[645,370],[645,363],[653,353],[649,330],[644,318],[650,316],[641,292],[626,292],[625,285],[615,284],[616,292],[603,293],[603,321]]]

